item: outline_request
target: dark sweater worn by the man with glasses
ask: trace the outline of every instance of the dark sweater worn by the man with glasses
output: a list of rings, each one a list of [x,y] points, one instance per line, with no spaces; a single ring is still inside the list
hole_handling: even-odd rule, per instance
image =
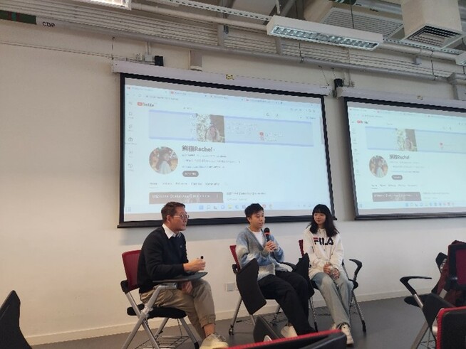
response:
[[[138,261],[140,293],[150,291],[152,280],[172,279],[183,274],[187,263],[185,235],[168,239],[163,227],[152,231],[144,240]]]

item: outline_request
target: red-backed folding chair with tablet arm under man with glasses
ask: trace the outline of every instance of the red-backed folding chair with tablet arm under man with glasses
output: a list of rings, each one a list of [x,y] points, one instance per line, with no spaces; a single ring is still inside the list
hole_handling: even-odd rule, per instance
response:
[[[185,328],[187,335],[192,340],[192,343],[194,344],[195,349],[198,349],[199,343],[197,343],[197,339],[195,338],[195,335],[192,334],[191,329],[189,328],[189,326],[187,326],[187,323],[185,321],[186,313],[177,308],[155,306],[154,303],[155,303],[155,300],[157,299],[158,294],[160,294],[160,291],[162,291],[163,289],[176,289],[178,282],[200,279],[202,276],[204,276],[207,273],[206,272],[195,273],[190,276],[180,276],[180,277],[177,277],[176,279],[154,281],[155,291],[150,297],[149,301],[147,301],[147,304],[138,304],[136,303],[133,295],[131,294],[131,291],[139,289],[138,288],[139,254],[140,254],[140,249],[124,252],[122,254],[123,266],[125,267],[125,273],[126,273],[126,279],[121,281],[120,286],[121,286],[123,293],[126,295],[126,297],[128,298],[128,301],[131,304],[131,306],[128,307],[126,312],[130,316],[138,317],[138,321],[136,322],[133,328],[133,331],[131,331],[130,335],[128,336],[125,343],[123,344],[123,349],[127,349],[129,347],[131,341],[135,337],[140,326],[143,326],[145,333],[147,333],[150,343],[152,343],[152,348],[160,349],[159,344],[160,342],[162,342],[162,340],[164,340],[164,338],[162,338],[161,336],[161,333],[162,333],[163,328],[167,324],[167,321],[170,318],[177,319],[178,321],[180,321],[180,323],[182,323],[182,326],[183,328]],[[155,333],[152,333],[152,331],[150,330],[149,323],[147,321],[150,318],[163,318],[162,323],[160,324],[159,328],[157,328],[157,331]],[[160,345],[162,345],[162,347],[165,348],[166,345],[174,345],[174,343],[181,344],[186,339],[187,338],[185,336],[171,336],[170,338],[167,338],[168,344],[167,342],[165,342]]]

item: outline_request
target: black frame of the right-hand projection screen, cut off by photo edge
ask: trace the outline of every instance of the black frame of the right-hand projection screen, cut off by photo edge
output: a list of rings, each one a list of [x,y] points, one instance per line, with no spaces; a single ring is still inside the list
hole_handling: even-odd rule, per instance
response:
[[[446,107],[435,104],[426,104],[425,101],[422,103],[415,102],[395,102],[393,100],[378,100],[373,98],[361,98],[361,97],[343,97],[344,112],[345,112],[345,122],[346,122],[346,132],[347,132],[347,144],[348,144],[348,160],[351,168],[351,186],[353,191],[353,205],[354,205],[354,220],[396,220],[396,219],[420,219],[420,218],[460,218],[466,217],[465,212],[445,212],[445,213],[386,213],[386,214],[365,214],[360,215],[358,209],[358,197],[356,193],[356,178],[355,178],[355,168],[353,166],[353,149],[351,144],[351,130],[349,124],[349,114],[348,114],[348,102],[359,102],[365,104],[374,104],[374,105],[387,105],[390,107],[408,107],[416,109],[427,109],[427,110],[444,110],[447,112],[461,112],[466,113],[466,109],[457,108],[457,107]]]

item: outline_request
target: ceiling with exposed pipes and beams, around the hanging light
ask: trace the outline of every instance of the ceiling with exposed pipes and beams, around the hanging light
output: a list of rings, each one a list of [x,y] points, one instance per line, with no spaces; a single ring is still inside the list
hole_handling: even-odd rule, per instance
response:
[[[120,0],[109,1],[116,3]],[[354,4],[350,6],[336,1],[353,1]],[[428,80],[446,79],[452,73],[462,73],[458,69],[460,67],[455,66],[455,59],[466,49],[462,30],[460,38],[445,47],[426,49],[425,45],[405,40],[401,0],[336,1],[132,0],[132,9],[128,10],[102,6],[90,0],[1,0],[0,10],[46,18],[46,21],[54,23],[56,29],[94,31],[147,43],[178,45],[190,50],[249,55],[331,68],[372,69],[375,73],[389,70],[406,76],[417,74],[417,77]],[[455,3],[455,0],[433,1]],[[457,4],[462,17],[460,25],[466,28],[466,0],[457,1]],[[382,50],[350,52],[332,45],[276,39],[266,34],[266,23],[277,12],[280,16],[342,27],[343,33],[345,28],[382,33]],[[40,23],[43,22],[37,21],[36,24]],[[385,56],[385,53],[399,53],[399,58]],[[433,65],[432,60],[440,62]]]

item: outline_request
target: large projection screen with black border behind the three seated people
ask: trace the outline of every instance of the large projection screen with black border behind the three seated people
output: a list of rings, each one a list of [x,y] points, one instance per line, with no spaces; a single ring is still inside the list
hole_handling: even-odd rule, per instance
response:
[[[121,77],[119,227],[159,225],[169,201],[190,224],[309,220],[331,208],[323,97],[286,91]]]

